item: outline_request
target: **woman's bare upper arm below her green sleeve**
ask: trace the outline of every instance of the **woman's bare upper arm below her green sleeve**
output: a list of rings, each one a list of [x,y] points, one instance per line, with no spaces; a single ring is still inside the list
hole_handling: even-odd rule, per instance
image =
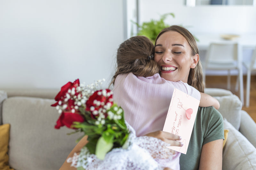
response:
[[[223,139],[218,139],[202,147],[199,170],[221,170],[222,169]]]

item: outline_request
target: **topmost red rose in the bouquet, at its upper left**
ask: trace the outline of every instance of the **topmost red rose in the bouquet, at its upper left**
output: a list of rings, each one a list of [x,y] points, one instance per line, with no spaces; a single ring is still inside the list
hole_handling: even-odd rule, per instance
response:
[[[76,79],[73,83],[68,82],[66,85],[63,85],[60,89],[60,92],[55,97],[55,101],[57,101],[57,102],[52,104],[51,106],[53,106],[53,107],[57,106],[58,102],[65,97],[66,93],[68,92],[68,89],[72,89],[73,87],[76,88],[79,85],[80,85],[79,79]]]

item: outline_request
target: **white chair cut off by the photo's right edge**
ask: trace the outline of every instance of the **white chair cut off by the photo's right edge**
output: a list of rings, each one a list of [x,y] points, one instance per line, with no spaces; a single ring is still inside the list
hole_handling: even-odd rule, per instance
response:
[[[247,78],[246,78],[246,103],[245,106],[249,107],[250,104],[250,85],[251,85],[251,73],[256,70],[256,48],[252,54],[251,62],[243,62],[243,65],[247,69]]]

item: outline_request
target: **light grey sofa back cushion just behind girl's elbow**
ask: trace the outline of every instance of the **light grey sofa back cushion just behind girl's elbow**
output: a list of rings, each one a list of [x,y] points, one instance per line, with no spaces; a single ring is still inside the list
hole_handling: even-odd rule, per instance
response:
[[[237,130],[240,127],[241,122],[241,109],[242,102],[240,99],[232,94],[228,96],[215,97],[220,102],[220,108],[218,111],[223,118],[226,118]]]

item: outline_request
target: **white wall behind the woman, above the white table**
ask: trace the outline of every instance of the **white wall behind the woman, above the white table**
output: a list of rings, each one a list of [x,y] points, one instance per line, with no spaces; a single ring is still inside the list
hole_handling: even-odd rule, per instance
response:
[[[182,1],[140,0],[140,23],[173,12],[166,23],[187,27],[191,33],[256,33],[256,6],[200,5],[187,7]]]

